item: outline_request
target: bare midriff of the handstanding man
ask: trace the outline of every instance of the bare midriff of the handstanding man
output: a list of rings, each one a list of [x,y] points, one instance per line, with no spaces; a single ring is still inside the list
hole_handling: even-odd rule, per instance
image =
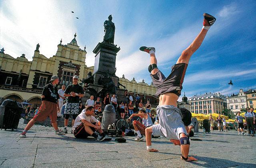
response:
[[[173,105],[177,107],[179,96],[174,93],[164,93],[159,96],[159,105]]]

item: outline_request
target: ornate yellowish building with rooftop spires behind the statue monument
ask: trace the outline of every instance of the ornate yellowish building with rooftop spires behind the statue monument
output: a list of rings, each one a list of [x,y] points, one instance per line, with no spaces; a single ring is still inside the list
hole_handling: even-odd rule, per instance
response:
[[[60,78],[58,84],[60,88],[63,84],[66,86],[71,84],[74,75],[82,80],[86,78],[88,72],[94,71],[94,66],[86,66],[86,47],[80,49],[76,34],[67,45],[62,45],[60,41],[56,55],[49,59],[40,54],[39,47],[39,44],[36,45],[32,61],[28,61],[24,54],[15,59],[3,51],[0,52],[0,78],[2,79],[0,80],[0,103],[6,99],[12,99],[39,106],[42,89],[48,84],[52,75]],[[158,98],[154,97],[156,88],[153,84],[129,81],[124,76],[119,82],[126,86],[130,94],[134,92],[140,94],[152,104],[159,102]]]

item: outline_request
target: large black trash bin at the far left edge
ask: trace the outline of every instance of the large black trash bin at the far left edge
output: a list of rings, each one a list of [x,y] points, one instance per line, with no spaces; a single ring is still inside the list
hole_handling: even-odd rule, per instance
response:
[[[0,128],[17,129],[20,121],[20,115],[23,111],[23,106],[20,102],[13,100],[4,100],[0,106]]]

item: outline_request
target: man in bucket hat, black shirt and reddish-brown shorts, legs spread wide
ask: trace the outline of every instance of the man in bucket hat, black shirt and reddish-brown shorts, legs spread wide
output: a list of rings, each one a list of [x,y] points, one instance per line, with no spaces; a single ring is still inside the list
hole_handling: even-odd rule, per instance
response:
[[[58,99],[60,99],[58,94],[58,89],[56,84],[59,83],[58,76],[52,76],[50,83],[44,86],[42,92],[42,105],[40,106],[38,113],[34,115],[26,125],[24,131],[20,134],[20,138],[25,138],[27,131],[35,124],[36,121],[44,121],[48,116],[50,116],[52,126],[55,129],[55,133],[59,135],[64,135],[65,133],[58,129],[57,124],[57,111],[60,111],[58,104]]]

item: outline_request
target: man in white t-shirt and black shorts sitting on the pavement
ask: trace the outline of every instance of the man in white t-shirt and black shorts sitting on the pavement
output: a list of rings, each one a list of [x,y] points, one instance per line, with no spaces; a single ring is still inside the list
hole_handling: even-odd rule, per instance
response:
[[[101,129],[100,121],[93,117],[93,114],[94,107],[88,106],[76,117],[72,128],[76,138],[87,138],[92,136],[96,141],[103,141],[105,139],[106,135]],[[97,135],[95,131],[100,133],[100,135]]]

